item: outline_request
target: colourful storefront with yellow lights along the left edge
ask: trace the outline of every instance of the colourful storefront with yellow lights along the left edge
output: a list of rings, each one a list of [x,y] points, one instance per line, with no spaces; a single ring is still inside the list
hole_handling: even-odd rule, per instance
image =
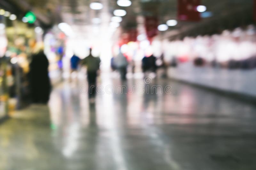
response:
[[[19,20],[1,9],[0,15],[0,118],[29,104],[29,63],[36,41],[43,30]]]

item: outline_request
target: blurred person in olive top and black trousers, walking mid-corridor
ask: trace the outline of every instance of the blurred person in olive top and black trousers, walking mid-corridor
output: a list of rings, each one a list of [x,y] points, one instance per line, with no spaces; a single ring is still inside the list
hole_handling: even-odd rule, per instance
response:
[[[100,58],[92,56],[92,48],[90,48],[90,54],[81,64],[87,67],[87,80],[89,83],[89,98],[90,102],[94,102],[94,97],[96,94],[96,78],[97,72],[100,69]]]

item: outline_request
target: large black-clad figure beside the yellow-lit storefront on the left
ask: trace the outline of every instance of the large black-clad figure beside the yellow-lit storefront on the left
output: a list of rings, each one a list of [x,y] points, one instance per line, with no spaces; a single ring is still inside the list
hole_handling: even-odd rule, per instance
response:
[[[32,60],[29,65],[30,92],[33,103],[47,103],[51,84],[48,76],[49,61],[44,54],[43,42],[36,43],[32,49]]]

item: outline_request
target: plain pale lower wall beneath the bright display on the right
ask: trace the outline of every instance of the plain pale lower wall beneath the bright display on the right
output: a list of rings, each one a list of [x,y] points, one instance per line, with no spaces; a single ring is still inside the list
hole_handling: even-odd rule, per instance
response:
[[[256,97],[256,69],[229,70],[195,67],[193,63],[183,63],[178,67],[170,67],[168,76],[198,85]]]

